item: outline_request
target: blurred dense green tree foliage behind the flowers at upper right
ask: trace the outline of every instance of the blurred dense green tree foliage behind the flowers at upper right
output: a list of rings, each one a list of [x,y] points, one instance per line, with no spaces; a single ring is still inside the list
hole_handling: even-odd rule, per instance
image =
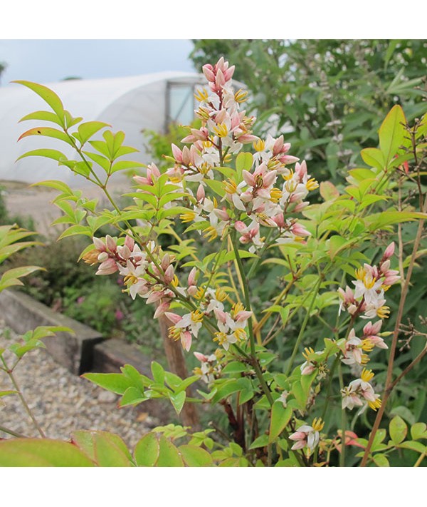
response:
[[[396,103],[408,120],[426,108],[426,41],[194,40],[197,69],[220,56],[239,62],[234,78],[251,91],[258,134],[288,131],[292,155],[321,180],[339,183],[362,163],[360,149]]]

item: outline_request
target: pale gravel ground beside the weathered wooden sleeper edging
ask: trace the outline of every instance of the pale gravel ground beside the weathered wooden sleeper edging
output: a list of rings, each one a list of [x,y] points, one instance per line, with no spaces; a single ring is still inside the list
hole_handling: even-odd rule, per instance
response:
[[[14,339],[16,334],[5,330],[0,321],[0,347],[6,348]],[[9,351],[4,352],[4,357],[16,358]],[[8,364],[12,362],[13,359]],[[119,434],[132,448],[146,431],[159,424],[141,409],[117,409],[119,396],[70,374],[44,349],[28,352],[14,376],[38,424],[51,439],[68,440],[75,429],[98,429]],[[14,387],[7,374],[0,371],[0,391],[9,389]],[[0,400],[5,404],[1,406],[0,401],[0,426],[25,436],[38,436],[19,396]],[[11,436],[0,431],[0,438]]]

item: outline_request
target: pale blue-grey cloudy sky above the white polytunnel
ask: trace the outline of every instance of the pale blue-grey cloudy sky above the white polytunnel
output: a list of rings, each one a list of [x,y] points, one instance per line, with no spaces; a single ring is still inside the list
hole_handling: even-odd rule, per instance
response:
[[[7,64],[1,86],[15,79],[49,83],[70,76],[109,78],[159,71],[194,71],[190,40],[0,39]]]

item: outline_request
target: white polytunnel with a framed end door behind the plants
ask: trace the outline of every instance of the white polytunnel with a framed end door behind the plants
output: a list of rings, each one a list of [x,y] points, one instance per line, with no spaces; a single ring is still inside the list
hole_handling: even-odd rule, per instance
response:
[[[202,84],[204,76],[197,73],[161,72],[125,78],[72,79],[46,86],[58,94],[72,116],[82,116],[83,121],[103,121],[112,126],[113,132],[125,132],[124,144],[139,152],[121,160],[149,163],[142,130],[164,131],[172,122],[190,123],[196,108],[194,91]],[[30,128],[52,126],[33,120],[19,123],[28,113],[41,110],[49,110],[47,104],[26,86],[12,83],[0,87],[0,180],[62,180],[71,186],[85,185],[83,177],[58,166],[55,160],[31,156],[16,161],[23,153],[39,148],[60,150],[68,158],[78,160],[73,148],[58,139],[32,135],[17,142]]]

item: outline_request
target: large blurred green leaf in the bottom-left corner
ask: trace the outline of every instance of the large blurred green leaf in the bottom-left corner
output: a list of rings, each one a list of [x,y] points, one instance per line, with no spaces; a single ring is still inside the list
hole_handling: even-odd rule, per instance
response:
[[[48,439],[0,441],[0,466],[94,466],[88,456],[68,442]]]

